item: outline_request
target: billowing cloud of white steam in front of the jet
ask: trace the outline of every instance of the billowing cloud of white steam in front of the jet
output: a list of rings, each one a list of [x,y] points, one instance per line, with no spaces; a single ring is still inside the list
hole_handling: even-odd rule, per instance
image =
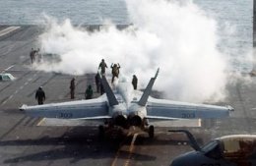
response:
[[[218,48],[217,23],[192,1],[127,0],[134,26],[109,25],[88,32],[69,20],[47,19],[40,35],[42,52],[58,54],[61,62],[38,64],[38,70],[83,75],[96,73],[101,59],[121,65],[121,75],[137,75],[145,87],[160,67],[155,88],[171,99],[203,102],[224,97],[226,55]]]

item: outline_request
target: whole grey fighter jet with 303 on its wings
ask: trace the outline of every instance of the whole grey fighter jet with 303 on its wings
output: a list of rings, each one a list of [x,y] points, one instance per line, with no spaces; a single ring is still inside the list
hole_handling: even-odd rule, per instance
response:
[[[145,90],[134,90],[132,83],[120,79],[115,88],[111,88],[106,78],[101,76],[100,82],[105,93],[90,100],[77,100],[44,105],[23,105],[32,117],[94,120],[99,123],[99,136],[103,136],[106,128],[139,127],[154,138],[154,126],[150,121],[172,121],[178,119],[223,118],[229,116],[231,106],[215,106],[192,104],[186,102],[157,99],[151,97],[153,84],[159,74],[150,80]]]

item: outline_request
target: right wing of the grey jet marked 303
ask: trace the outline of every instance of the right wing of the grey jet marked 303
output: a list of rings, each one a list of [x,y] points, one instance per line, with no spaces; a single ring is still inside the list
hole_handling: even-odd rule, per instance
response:
[[[231,106],[192,104],[150,97],[147,118],[159,120],[224,118],[232,111]]]

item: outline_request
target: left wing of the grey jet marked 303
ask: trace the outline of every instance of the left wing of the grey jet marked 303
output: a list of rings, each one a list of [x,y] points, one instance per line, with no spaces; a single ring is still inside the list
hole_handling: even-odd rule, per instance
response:
[[[41,118],[98,120],[111,118],[108,106],[102,98],[51,103],[36,106],[23,105],[27,115]]]

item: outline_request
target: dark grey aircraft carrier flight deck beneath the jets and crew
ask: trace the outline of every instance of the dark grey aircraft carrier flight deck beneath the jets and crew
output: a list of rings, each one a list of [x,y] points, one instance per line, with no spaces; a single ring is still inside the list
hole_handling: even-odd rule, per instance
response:
[[[0,26],[0,70],[16,78],[0,83],[0,165],[165,166],[192,150],[183,134],[167,132],[173,128],[189,130],[200,143],[224,135],[256,133],[256,78],[229,84],[226,100],[213,103],[231,105],[234,111],[229,118],[198,122],[200,126],[196,122],[191,127],[166,123],[164,128],[156,127],[155,138],[111,133],[100,139],[97,127],[47,126],[50,122],[28,117],[19,107],[37,104],[34,93],[39,86],[46,93],[45,103],[69,101],[73,76],[32,69],[29,54],[40,33],[36,26]],[[89,83],[95,90],[95,74],[76,77],[76,99],[85,98]]]

